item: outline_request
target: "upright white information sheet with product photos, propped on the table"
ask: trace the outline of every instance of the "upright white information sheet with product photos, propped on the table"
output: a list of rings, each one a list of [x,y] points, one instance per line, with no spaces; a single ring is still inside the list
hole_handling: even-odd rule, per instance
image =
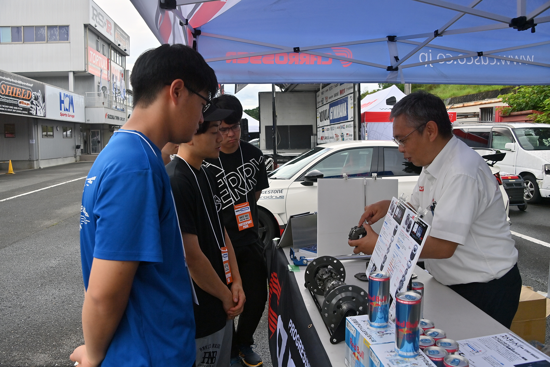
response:
[[[392,319],[395,311],[393,298],[397,293],[406,291],[412,275],[411,268],[416,265],[430,233],[430,226],[420,219],[415,221],[415,218],[415,212],[392,198],[366,271],[367,274],[371,271],[389,273],[389,293],[392,296],[389,315]]]

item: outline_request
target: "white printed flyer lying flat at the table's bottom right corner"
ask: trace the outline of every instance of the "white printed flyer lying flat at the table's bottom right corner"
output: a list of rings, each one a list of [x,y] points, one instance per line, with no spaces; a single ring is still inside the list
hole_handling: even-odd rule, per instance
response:
[[[550,357],[512,333],[458,341],[474,367],[549,367]]]

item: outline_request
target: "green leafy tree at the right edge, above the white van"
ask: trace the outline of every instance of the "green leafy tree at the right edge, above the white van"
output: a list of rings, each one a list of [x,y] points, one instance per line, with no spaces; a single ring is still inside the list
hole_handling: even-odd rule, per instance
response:
[[[509,107],[502,109],[503,114],[518,111],[543,112],[542,114],[533,113],[529,117],[533,122],[550,123],[550,86],[549,85],[524,85],[517,87],[509,94],[499,96]]]

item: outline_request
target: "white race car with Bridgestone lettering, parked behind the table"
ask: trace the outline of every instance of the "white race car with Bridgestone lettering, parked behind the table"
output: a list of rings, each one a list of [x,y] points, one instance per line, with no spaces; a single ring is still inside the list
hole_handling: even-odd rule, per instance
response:
[[[497,176],[498,166],[491,168]],[[317,145],[268,174],[270,187],[262,191],[258,200],[259,232],[265,245],[281,235],[290,216],[317,211],[317,183],[304,181],[305,174],[313,169],[321,171],[323,178],[338,178],[343,173],[348,177],[371,177],[376,173],[380,179],[397,178],[398,195],[405,193],[409,197],[422,171],[422,167],[406,161],[397,144],[390,140]],[[500,189],[508,215],[508,195],[502,186]],[[350,228],[353,225],[350,223]]]

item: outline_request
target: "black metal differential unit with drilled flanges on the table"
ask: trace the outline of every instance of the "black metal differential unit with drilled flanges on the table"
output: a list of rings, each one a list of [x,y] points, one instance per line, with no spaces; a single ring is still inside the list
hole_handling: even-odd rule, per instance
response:
[[[331,343],[345,339],[345,318],[365,315],[368,294],[361,287],[346,284],[342,262],[332,256],[321,256],[307,265],[304,286],[309,289],[331,335]],[[316,296],[322,298],[322,304]]]

